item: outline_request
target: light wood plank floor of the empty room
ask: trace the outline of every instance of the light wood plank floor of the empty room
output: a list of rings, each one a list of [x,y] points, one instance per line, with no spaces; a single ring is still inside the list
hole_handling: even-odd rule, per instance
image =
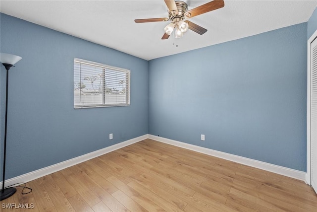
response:
[[[145,140],[28,183],[16,211],[317,212],[304,182]],[[12,211],[0,209],[1,211]]]

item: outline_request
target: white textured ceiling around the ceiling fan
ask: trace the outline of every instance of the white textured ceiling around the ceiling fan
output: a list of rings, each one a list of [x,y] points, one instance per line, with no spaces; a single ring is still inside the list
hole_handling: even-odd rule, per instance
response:
[[[183,0],[188,9],[211,0]],[[48,28],[151,60],[308,21],[317,0],[224,0],[224,7],[190,18],[208,29],[161,40],[168,22],[164,0],[0,0],[0,11]],[[176,47],[178,44],[178,47]]]

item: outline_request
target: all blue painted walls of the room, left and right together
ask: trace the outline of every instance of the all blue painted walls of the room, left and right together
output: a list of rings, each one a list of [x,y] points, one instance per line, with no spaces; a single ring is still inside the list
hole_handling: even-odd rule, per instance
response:
[[[23,58],[9,74],[6,178],[147,133],[306,171],[307,37],[316,14],[148,62],[1,13],[0,50]],[[73,109],[74,58],[130,69],[131,106]]]

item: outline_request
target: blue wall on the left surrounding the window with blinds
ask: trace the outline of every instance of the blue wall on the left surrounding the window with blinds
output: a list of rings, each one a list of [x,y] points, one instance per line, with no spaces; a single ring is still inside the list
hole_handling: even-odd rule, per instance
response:
[[[1,52],[22,57],[9,72],[6,179],[148,133],[148,61],[2,13],[0,26]],[[73,109],[74,58],[130,69],[131,106]]]

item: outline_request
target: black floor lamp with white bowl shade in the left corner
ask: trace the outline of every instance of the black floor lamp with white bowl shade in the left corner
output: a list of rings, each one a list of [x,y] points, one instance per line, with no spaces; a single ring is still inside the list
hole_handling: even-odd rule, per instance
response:
[[[11,197],[15,192],[15,188],[4,189],[4,177],[5,177],[5,153],[6,153],[6,122],[7,122],[7,110],[8,110],[8,80],[9,80],[9,69],[20,61],[22,58],[16,55],[10,55],[0,53],[0,62],[6,70],[6,93],[5,93],[5,124],[4,124],[4,148],[3,148],[3,168],[2,168],[2,189],[0,191],[0,199],[4,200]]]

